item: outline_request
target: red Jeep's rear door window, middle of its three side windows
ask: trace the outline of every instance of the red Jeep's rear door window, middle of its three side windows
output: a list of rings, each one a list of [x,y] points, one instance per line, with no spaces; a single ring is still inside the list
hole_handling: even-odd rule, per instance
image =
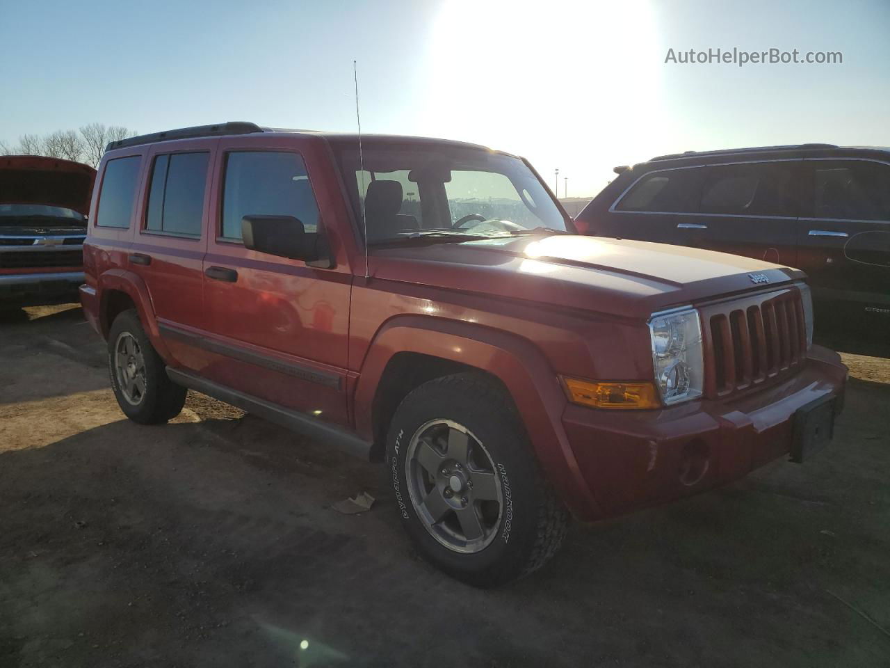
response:
[[[206,152],[173,153],[155,158],[145,215],[146,230],[201,235],[209,160],[210,154]]]

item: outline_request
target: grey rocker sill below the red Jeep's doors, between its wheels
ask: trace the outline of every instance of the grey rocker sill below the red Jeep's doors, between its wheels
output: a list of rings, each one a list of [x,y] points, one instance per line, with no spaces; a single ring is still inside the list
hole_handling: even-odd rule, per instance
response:
[[[281,427],[299,432],[310,438],[324,441],[347,454],[369,460],[371,444],[360,436],[343,428],[323,422],[300,411],[294,411],[278,403],[267,402],[259,397],[247,395],[231,387],[225,387],[211,380],[202,379],[187,371],[166,368],[167,377],[177,385],[197,390],[225,403],[231,403],[244,411],[269,420]]]

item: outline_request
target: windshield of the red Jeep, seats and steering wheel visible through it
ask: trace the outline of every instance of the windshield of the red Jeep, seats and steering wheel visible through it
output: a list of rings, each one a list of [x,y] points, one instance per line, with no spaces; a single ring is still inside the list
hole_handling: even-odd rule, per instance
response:
[[[356,220],[368,243],[425,236],[441,240],[566,232],[566,219],[521,159],[453,144],[366,142],[339,151]]]

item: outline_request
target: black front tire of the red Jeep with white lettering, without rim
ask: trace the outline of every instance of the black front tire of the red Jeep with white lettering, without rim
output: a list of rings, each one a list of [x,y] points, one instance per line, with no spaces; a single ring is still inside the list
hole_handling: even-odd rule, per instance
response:
[[[418,387],[393,416],[386,444],[386,476],[403,525],[426,558],[457,579],[494,586],[519,577],[538,536],[542,486],[538,463],[513,403],[487,379],[459,374]],[[427,531],[411,502],[405,462],[411,438],[429,420],[453,420],[469,429],[494,460],[504,503],[497,535],[483,550],[449,550]]]

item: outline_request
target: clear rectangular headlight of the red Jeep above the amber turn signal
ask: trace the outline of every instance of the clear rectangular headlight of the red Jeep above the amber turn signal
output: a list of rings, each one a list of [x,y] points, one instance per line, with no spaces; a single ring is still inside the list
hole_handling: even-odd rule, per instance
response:
[[[669,404],[700,396],[705,373],[699,312],[684,308],[652,314],[649,333],[661,400]]]

